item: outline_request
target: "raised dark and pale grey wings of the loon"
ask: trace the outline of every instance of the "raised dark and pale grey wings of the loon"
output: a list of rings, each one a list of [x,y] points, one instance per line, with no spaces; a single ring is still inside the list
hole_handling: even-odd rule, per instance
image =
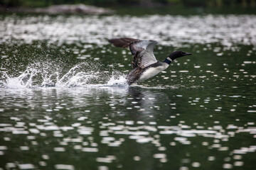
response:
[[[134,38],[115,38],[109,40],[116,47],[129,47],[134,56],[132,61],[133,69],[136,67],[147,67],[157,62],[154,56],[154,46],[157,42],[154,40],[138,40]]]

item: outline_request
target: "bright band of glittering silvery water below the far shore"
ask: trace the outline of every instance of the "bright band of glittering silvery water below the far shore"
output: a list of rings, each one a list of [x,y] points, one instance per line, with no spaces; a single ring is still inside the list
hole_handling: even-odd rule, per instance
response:
[[[59,45],[63,42],[102,45],[107,43],[107,38],[134,37],[154,39],[164,45],[174,46],[184,42],[199,44],[221,42],[225,46],[253,45],[256,44],[255,23],[254,15],[85,16],[84,18],[23,16],[18,21],[15,16],[6,16],[0,21],[0,42],[23,40],[29,43],[33,40],[48,40],[58,42]]]

